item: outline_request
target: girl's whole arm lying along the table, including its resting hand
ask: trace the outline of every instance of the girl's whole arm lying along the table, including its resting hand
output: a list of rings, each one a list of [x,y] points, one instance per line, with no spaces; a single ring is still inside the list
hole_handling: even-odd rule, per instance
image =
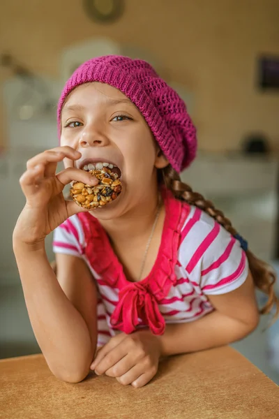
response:
[[[169,324],[162,336],[138,330],[112,337],[98,351],[91,369],[124,385],[142,387],[156,374],[160,357],[229,344],[256,328],[259,314],[250,274],[236,291],[209,299],[215,311],[190,323]]]

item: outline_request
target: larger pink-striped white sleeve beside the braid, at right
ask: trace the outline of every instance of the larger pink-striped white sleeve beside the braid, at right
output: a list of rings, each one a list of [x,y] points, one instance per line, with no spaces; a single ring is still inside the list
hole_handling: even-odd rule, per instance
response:
[[[239,241],[199,208],[191,209],[181,238],[181,265],[202,293],[229,293],[246,281],[248,259]]]

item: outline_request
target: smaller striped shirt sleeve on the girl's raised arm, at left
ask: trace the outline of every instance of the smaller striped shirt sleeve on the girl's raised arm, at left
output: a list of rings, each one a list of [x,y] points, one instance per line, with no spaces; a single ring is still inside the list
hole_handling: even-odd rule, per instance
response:
[[[84,234],[80,220],[76,215],[70,216],[61,226],[54,230],[52,248],[54,253],[82,257]]]

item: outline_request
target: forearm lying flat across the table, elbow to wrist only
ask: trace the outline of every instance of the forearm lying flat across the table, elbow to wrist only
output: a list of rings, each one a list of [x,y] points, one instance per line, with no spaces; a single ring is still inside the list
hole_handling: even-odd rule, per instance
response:
[[[235,318],[213,311],[190,323],[166,325],[158,337],[163,356],[202,351],[230,344],[248,335],[254,327]]]

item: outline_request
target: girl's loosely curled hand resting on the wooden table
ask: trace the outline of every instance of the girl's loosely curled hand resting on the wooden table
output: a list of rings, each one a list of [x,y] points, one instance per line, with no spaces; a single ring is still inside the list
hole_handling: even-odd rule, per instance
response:
[[[116,377],[123,385],[142,387],[158,371],[160,343],[149,330],[121,333],[100,348],[91,364],[97,375]]]

